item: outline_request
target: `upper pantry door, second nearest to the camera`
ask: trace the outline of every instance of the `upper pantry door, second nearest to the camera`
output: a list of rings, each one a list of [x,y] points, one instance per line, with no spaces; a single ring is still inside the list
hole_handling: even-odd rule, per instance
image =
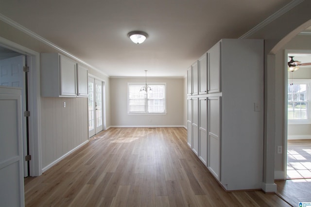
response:
[[[199,94],[207,94],[207,53],[199,59]]]

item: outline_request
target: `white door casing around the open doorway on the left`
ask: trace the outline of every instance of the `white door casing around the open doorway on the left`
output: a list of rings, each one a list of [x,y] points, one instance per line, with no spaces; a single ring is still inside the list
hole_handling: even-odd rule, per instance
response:
[[[31,111],[29,117],[29,154],[32,155],[30,161],[30,175],[39,176],[42,174],[41,163],[41,97],[40,97],[40,53],[18,45],[15,42],[0,37],[0,46],[16,51],[27,56],[28,66],[28,106]]]

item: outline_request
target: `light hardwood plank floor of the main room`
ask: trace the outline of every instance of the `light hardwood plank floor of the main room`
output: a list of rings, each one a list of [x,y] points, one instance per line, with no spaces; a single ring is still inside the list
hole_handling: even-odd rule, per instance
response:
[[[25,179],[28,207],[287,207],[276,194],[225,192],[184,128],[110,128],[43,175]]]

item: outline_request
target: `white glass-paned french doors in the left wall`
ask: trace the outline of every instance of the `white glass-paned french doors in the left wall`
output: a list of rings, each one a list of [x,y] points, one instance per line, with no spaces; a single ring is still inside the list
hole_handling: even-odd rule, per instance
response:
[[[88,136],[103,130],[103,84],[88,78]]]

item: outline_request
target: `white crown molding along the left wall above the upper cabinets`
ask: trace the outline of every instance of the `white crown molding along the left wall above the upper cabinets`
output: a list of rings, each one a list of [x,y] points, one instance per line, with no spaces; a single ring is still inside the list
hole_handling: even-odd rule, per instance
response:
[[[42,42],[42,43],[44,43],[44,44],[46,44],[46,45],[48,45],[48,46],[58,50],[59,52],[69,56],[70,58],[72,58],[72,59],[74,59],[74,60],[76,60],[76,61],[78,61],[78,62],[80,62],[82,64],[85,64],[86,66],[94,69],[95,71],[97,71],[97,72],[99,72],[99,73],[101,73],[104,76],[107,76],[109,78],[109,76],[107,74],[105,74],[103,71],[101,71],[100,69],[98,69],[98,68],[96,68],[96,67],[94,67],[94,66],[92,66],[92,65],[90,65],[88,63],[86,63],[84,60],[74,56],[73,54],[69,53],[65,49],[55,45],[54,43],[50,42],[49,40],[41,37],[40,35],[36,34],[35,32],[33,32],[33,31],[29,30],[29,29],[27,29],[26,27],[18,24],[16,21],[13,21],[12,19],[2,15],[1,13],[0,13],[0,20],[5,22],[5,23],[7,23],[7,24],[9,24],[9,25],[11,25],[12,27],[16,28],[17,30],[19,30],[21,32],[24,32],[24,33],[30,35],[31,37],[39,40],[40,42]]]

